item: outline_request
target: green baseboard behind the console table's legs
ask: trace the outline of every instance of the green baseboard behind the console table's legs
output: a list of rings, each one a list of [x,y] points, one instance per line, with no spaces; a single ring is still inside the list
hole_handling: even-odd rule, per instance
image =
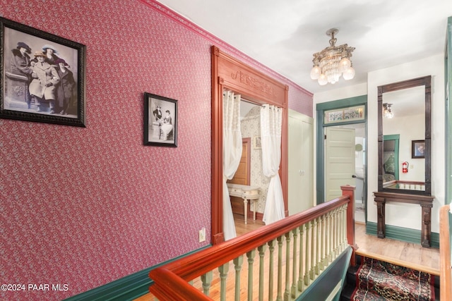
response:
[[[372,222],[368,221],[366,223],[366,233],[369,235],[376,236],[376,223],[372,223]],[[386,238],[392,238],[394,240],[402,240],[405,242],[412,242],[412,243],[420,245],[421,244],[421,231],[415,230],[415,229],[410,229],[410,228],[386,225]],[[432,232],[431,239],[432,239],[432,241],[430,243],[431,247],[438,249],[439,248],[439,233]]]

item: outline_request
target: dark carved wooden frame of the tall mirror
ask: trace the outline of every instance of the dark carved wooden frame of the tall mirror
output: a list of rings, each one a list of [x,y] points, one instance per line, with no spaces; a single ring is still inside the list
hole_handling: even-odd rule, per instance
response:
[[[383,93],[397,90],[408,89],[412,87],[425,87],[425,190],[401,190],[395,188],[383,188]],[[402,82],[393,82],[388,85],[378,86],[378,148],[379,148],[379,192],[393,192],[410,195],[432,195],[431,183],[431,132],[432,132],[432,75],[422,78],[413,78]]]

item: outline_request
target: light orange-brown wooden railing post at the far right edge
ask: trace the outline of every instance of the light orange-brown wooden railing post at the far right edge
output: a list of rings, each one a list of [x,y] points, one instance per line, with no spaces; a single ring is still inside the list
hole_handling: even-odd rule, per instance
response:
[[[440,300],[452,300],[450,210],[451,207],[449,205],[445,205],[441,207],[439,211]]]

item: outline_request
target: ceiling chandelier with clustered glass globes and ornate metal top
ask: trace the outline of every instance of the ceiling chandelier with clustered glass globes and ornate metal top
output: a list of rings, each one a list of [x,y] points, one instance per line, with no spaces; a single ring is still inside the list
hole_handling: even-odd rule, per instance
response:
[[[340,75],[344,80],[351,80],[355,77],[355,69],[352,67],[352,56],[355,47],[348,47],[347,44],[335,46],[337,39],[334,37],[339,32],[337,28],[331,28],[326,35],[331,37],[330,46],[320,52],[313,54],[311,78],[318,80],[319,85],[326,85],[328,82],[334,84],[339,81]]]

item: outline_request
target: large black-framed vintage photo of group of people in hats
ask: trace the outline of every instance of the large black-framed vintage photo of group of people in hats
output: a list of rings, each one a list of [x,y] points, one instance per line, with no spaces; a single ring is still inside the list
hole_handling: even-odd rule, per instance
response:
[[[0,17],[0,118],[85,127],[85,45]]]

